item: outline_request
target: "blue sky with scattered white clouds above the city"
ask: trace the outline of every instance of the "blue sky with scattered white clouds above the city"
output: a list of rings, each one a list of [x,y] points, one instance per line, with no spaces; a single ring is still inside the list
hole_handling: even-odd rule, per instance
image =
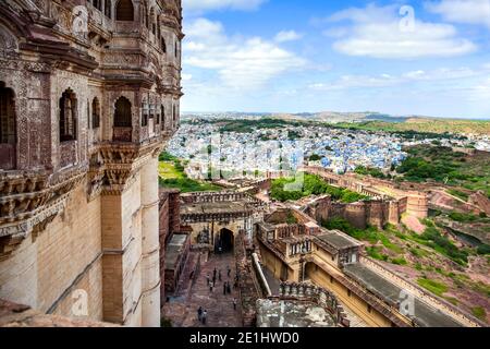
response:
[[[490,0],[183,0],[184,111],[490,118]]]

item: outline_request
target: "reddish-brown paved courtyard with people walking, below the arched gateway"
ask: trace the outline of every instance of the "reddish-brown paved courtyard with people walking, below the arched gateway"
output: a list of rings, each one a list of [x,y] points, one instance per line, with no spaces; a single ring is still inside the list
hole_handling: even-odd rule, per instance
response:
[[[232,269],[230,278],[226,266]],[[212,272],[221,270],[222,281],[218,280],[212,292],[207,285],[206,275],[212,278]],[[197,309],[203,306],[208,312],[206,327],[242,327],[242,311],[240,294],[233,290],[235,276],[235,260],[233,254],[211,255],[209,261],[203,261],[199,275],[194,286],[185,285],[180,294],[164,305],[163,315],[172,322],[174,327],[204,327],[197,320]],[[187,276],[183,275],[183,278]],[[223,284],[230,281],[231,294],[223,294]],[[237,299],[236,311],[233,309],[233,298]]]

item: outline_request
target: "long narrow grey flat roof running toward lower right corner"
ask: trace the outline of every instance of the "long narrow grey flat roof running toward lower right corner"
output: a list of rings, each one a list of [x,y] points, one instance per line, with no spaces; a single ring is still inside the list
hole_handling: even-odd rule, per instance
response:
[[[372,272],[360,263],[347,265],[344,272],[350,277],[364,285],[366,289],[381,297],[388,302],[396,303],[400,300],[402,288],[392,284],[381,275]],[[415,299],[415,317],[417,323],[424,327],[461,327],[462,325],[451,316],[444,314],[427,303]]]

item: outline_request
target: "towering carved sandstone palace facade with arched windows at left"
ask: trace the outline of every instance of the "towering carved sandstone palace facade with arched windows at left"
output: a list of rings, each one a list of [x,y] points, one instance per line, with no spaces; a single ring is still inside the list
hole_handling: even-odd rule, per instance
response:
[[[160,324],[157,158],[182,38],[181,0],[0,2],[0,298]]]

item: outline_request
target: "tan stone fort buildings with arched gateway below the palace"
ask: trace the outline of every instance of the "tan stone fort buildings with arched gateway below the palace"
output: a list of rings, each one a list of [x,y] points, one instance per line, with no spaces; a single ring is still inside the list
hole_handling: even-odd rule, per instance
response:
[[[244,326],[481,325],[368,258],[362,242],[321,228],[309,212],[235,191],[184,194],[180,207],[191,248],[181,243],[179,258],[170,243],[166,260],[180,260],[176,268],[184,269],[189,249],[212,255],[226,242],[236,257]],[[174,275],[166,270],[166,281],[177,282]]]

